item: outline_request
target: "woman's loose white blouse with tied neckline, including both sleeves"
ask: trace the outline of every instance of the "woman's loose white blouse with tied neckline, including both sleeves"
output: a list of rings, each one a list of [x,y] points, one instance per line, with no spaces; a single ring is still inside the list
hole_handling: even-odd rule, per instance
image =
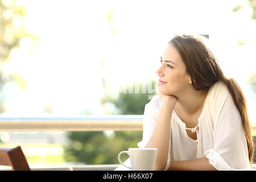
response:
[[[143,114],[143,138],[138,147],[146,146],[159,118],[162,98],[152,97]],[[197,139],[188,137],[186,130],[196,132]],[[171,115],[167,165],[170,161],[206,157],[217,170],[252,169],[248,159],[247,142],[240,113],[226,85],[218,81],[212,85],[198,118],[198,125],[187,129],[175,110]],[[130,166],[130,160],[125,164]],[[129,170],[118,167],[117,170]]]

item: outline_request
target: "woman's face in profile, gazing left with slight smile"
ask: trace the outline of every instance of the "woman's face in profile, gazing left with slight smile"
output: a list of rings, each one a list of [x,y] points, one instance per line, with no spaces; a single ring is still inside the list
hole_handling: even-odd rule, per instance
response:
[[[162,63],[156,71],[159,76],[159,92],[162,94],[179,96],[189,86],[190,76],[185,71],[186,67],[179,52],[169,44],[163,53]],[[191,82],[191,81],[190,81]]]

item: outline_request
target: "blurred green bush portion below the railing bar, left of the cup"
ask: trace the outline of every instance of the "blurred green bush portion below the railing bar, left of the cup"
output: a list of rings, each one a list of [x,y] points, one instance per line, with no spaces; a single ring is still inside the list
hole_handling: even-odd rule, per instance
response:
[[[104,131],[70,132],[64,158],[76,163],[117,164],[119,152],[137,147],[142,139],[142,131],[115,131],[114,135],[108,137]]]

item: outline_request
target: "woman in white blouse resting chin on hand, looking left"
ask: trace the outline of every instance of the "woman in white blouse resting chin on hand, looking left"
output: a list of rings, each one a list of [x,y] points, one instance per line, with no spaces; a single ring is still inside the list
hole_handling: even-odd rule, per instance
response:
[[[145,106],[138,143],[158,148],[155,170],[250,169],[254,147],[245,97],[203,39],[174,36],[160,63],[157,95]]]

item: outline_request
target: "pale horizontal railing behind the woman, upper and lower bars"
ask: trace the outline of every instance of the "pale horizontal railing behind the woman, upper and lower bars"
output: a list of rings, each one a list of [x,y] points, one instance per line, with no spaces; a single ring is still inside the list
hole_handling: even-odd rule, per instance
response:
[[[142,131],[143,115],[0,117],[0,131]],[[256,125],[251,125],[256,131]],[[32,170],[113,170],[118,164],[32,167]],[[8,169],[8,168],[6,168]]]

